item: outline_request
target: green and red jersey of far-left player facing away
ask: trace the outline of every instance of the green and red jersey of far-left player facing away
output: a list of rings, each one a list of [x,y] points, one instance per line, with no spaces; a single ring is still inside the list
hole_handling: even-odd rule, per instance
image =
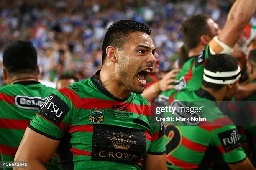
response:
[[[36,110],[54,88],[36,81],[16,82],[0,87],[0,155],[2,161],[13,161],[25,130]],[[46,167],[59,168],[57,157]],[[11,168],[4,168],[11,169]]]

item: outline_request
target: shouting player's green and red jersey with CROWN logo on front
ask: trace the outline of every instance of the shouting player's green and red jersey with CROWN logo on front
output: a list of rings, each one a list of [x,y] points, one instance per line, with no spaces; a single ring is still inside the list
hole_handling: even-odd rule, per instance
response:
[[[151,102],[141,95],[111,95],[99,72],[54,91],[28,127],[61,140],[57,154],[63,170],[141,169],[146,154],[166,153],[164,124],[153,124]]]

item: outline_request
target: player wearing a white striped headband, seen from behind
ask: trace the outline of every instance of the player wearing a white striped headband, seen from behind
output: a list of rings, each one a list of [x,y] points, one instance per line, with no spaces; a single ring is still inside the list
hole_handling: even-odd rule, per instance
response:
[[[204,117],[207,121],[188,120],[187,126],[166,125],[164,138],[169,168],[207,170],[212,167],[215,154],[220,152],[231,170],[255,169],[240,146],[236,126],[219,110],[216,102],[230,100],[233,97],[240,75],[237,59],[227,54],[219,54],[207,60],[204,82],[200,89],[184,90],[174,95],[175,101],[171,105],[177,103],[179,107],[195,106],[195,102],[184,106],[186,102],[182,101],[199,101],[200,106],[204,106],[203,111],[187,114],[191,114],[191,117],[195,115]],[[185,113],[174,113],[176,117],[184,117],[183,114]],[[166,116],[169,115],[172,114]],[[230,138],[232,143],[227,142]]]

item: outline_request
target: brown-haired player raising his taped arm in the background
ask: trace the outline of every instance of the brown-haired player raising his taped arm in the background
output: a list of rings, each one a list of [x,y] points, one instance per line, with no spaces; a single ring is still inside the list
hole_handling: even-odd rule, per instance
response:
[[[249,23],[256,8],[255,0],[237,0],[230,9],[223,30],[204,14],[194,15],[182,23],[181,33],[184,47],[182,56],[187,58],[182,70],[176,77],[179,80],[176,90],[197,90],[202,85],[203,68],[210,54],[230,54],[239,39],[243,28]],[[238,19],[239,18],[239,19]],[[176,90],[161,94],[163,100],[172,100]],[[256,91],[256,85],[239,87],[237,100],[241,100]]]

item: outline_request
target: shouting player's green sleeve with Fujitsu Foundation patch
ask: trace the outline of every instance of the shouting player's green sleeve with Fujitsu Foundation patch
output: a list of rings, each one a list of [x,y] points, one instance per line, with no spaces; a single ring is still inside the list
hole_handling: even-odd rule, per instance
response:
[[[54,140],[61,140],[72,123],[72,102],[59,91],[54,91],[39,107],[29,128]]]

